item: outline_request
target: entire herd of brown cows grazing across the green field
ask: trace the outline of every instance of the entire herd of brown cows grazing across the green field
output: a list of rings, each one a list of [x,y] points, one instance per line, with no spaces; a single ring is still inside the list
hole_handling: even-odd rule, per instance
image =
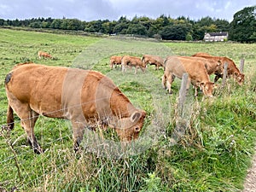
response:
[[[44,52],[38,52],[38,57],[52,58]],[[154,55],[112,56],[110,59],[110,66],[120,64],[123,72],[127,67],[135,67],[135,73],[138,68],[144,72],[148,64],[155,65],[156,69],[164,67],[162,84],[170,93],[174,78],[181,79],[183,73],[188,73],[189,84],[200,87],[206,96],[212,96],[214,86],[209,75],[216,75],[215,82],[222,78],[224,63],[228,64],[227,75],[242,84],[244,74],[234,61],[206,53],[168,56],[165,60]],[[14,128],[15,111],[36,153],[44,152],[34,135],[39,115],[69,119],[73,125],[75,150],[79,148],[85,128],[113,128],[123,143],[137,139],[143,128],[146,112],[135,108],[111,79],[96,71],[21,63],[13,67],[4,82],[8,98],[6,128]]]

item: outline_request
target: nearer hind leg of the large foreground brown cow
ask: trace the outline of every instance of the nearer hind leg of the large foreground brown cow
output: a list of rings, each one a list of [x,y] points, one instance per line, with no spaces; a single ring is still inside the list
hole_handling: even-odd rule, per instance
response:
[[[27,141],[31,144],[33,150],[37,154],[43,153],[43,149],[39,146],[37,138],[34,134],[34,126],[38,119],[38,113],[32,110],[27,103],[19,103],[18,108],[14,108],[20,118],[20,124],[26,132]]]

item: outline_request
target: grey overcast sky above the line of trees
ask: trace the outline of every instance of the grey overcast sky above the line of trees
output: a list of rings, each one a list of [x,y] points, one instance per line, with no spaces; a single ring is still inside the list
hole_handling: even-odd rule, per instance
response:
[[[0,0],[0,19],[66,17],[90,21],[170,15],[174,19],[185,16],[199,20],[210,16],[231,21],[237,11],[253,5],[255,0]]]

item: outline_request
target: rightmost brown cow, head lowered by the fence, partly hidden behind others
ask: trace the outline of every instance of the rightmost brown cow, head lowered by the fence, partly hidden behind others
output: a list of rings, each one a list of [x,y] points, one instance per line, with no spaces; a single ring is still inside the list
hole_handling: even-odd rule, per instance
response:
[[[227,76],[230,78],[231,76],[236,79],[237,83],[241,85],[244,82],[244,74],[240,73],[239,69],[236,67],[236,64],[234,61],[232,61],[230,58],[225,57],[225,56],[214,56],[214,55],[209,55],[206,53],[196,53],[193,56],[197,57],[203,57],[209,60],[214,60],[214,61],[221,61],[222,65],[224,66],[224,63],[228,64],[228,74]],[[218,74],[216,73],[216,77],[214,79],[214,82],[217,82],[219,78],[223,78],[223,73]]]

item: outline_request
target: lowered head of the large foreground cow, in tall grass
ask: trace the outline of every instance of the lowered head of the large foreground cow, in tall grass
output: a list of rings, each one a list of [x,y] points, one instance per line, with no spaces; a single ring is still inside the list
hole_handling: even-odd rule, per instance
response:
[[[136,111],[128,118],[119,119],[119,123],[115,127],[115,131],[117,132],[120,141],[130,143],[132,139],[137,139],[143,128],[145,117],[145,111]]]

